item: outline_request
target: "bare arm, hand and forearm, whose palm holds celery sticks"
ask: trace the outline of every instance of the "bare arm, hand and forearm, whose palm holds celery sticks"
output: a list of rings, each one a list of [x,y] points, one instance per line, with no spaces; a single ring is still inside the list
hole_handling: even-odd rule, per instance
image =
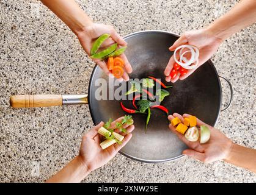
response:
[[[122,119],[123,117],[111,122],[110,128],[114,128],[117,122],[122,122]],[[120,133],[125,137],[122,144],[119,145],[116,143],[103,150],[100,146],[103,136],[98,134],[98,129],[103,125],[104,122],[100,122],[97,126],[93,127],[92,130],[86,133],[84,137],[82,137],[79,155],[46,182],[81,182],[90,172],[100,168],[108,163],[109,160],[114,158],[117,152],[119,152],[132,137],[131,132],[134,129],[133,124],[123,124],[123,128],[126,129],[126,133],[122,133],[120,130],[115,129],[115,132]]]

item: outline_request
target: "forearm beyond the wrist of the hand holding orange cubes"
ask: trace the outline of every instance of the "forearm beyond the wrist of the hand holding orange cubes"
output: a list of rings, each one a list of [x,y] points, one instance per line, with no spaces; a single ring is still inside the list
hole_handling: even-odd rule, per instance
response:
[[[249,169],[256,173],[256,150],[233,144],[229,156],[225,159],[227,163]]]

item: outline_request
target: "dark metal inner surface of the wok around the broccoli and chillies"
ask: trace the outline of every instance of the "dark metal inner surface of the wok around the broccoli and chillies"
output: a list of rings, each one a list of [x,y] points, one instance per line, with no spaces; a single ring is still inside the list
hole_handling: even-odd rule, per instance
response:
[[[139,32],[128,35],[126,56],[133,66],[131,78],[142,79],[154,76],[164,81],[164,69],[172,52],[168,50],[176,35],[166,32]],[[95,80],[108,79],[100,68],[96,67],[90,82],[89,105],[93,122],[107,121],[109,118],[119,118],[127,115],[120,108],[120,101],[97,101],[95,99]],[[166,82],[164,82],[166,83]],[[167,84],[167,83],[166,83]],[[208,61],[185,80],[178,80],[173,88],[168,89],[170,96],[162,102],[169,113],[189,113],[214,126],[221,106],[221,85],[213,64]],[[117,88],[117,87],[115,87]],[[126,107],[133,108],[131,101],[123,101]],[[136,160],[159,162],[174,160],[186,149],[174,133],[168,128],[166,113],[152,110],[152,116],[145,133],[147,115],[135,114],[134,132],[131,141],[122,149],[122,154]]]

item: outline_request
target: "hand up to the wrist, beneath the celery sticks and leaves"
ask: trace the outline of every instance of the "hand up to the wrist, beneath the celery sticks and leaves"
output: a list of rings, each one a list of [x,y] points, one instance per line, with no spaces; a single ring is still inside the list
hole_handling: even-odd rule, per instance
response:
[[[123,117],[113,121],[111,123],[110,128],[115,127],[116,122],[121,122]],[[106,149],[102,149],[100,147],[100,143],[103,140],[103,136],[98,134],[98,129],[104,125],[104,122],[100,122],[97,126],[93,127],[88,133],[82,137],[82,143],[80,147],[79,157],[81,158],[84,166],[88,171],[93,171],[97,168],[108,163],[117,152],[125,146],[126,143],[131,139],[132,135],[131,132],[134,129],[133,124],[127,126],[126,124],[123,125],[123,128],[126,129],[127,134],[120,133],[120,131],[115,130],[115,132],[120,133],[121,135],[125,136],[122,141],[122,144],[113,144],[112,146],[107,147]]]

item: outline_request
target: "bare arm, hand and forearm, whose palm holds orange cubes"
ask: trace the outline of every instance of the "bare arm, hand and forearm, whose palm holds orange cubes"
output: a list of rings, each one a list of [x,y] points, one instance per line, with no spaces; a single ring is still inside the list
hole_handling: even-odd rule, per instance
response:
[[[178,113],[174,113],[174,115],[169,115],[168,118],[171,121],[175,117],[178,117],[181,122],[183,122],[184,118],[189,118],[189,116],[188,114],[181,116]],[[210,140],[205,144],[200,144],[199,141],[193,142],[186,140],[185,136],[177,132],[172,124],[169,125],[170,130],[190,148],[183,151],[183,154],[196,158],[204,163],[224,160],[227,163],[241,166],[256,173],[256,149],[239,146],[233,143],[229,138],[225,137],[221,131],[197,119],[197,126],[200,127],[201,125],[208,126],[211,130]]]

